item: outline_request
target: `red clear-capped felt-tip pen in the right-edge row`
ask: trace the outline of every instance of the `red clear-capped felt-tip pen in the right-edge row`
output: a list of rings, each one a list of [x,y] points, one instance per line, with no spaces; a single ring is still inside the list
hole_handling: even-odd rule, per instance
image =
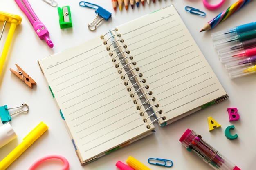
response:
[[[230,62],[230,61],[239,60],[245,57],[252,57],[254,55],[256,55],[256,47],[251,49],[236,51],[233,53],[228,53],[225,55],[220,55],[220,62]]]

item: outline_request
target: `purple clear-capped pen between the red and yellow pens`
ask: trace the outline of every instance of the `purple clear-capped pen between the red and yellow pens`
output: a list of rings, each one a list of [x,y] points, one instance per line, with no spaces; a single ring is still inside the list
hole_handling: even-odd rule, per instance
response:
[[[256,64],[256,56],[246,57],[239,60],[226,62],[225,68],[227,70],[233,70],[233,69],[243,68],[245,66],[250,66],[252,64]]]

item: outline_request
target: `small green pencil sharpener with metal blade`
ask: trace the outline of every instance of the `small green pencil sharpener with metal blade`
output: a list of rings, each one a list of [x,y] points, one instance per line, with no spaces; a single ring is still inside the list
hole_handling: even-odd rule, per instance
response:
[[[58,7],[58,16],[60,17],[59,23],[60,27],[62,28],[69,28],[72,27],[72,20],[71,20],[71,13],[70,7]]]

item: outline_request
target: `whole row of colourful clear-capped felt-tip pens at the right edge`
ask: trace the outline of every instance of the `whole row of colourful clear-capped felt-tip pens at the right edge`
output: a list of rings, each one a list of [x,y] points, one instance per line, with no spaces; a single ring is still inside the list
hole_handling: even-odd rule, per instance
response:
[[[256,73],[256,22],[212,33],[211,38],[230,78]]]

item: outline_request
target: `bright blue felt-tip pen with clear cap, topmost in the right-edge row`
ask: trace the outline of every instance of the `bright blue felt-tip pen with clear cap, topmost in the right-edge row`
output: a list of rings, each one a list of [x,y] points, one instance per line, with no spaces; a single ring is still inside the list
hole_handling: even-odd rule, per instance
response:
[[[235,26],[235,27],[227,29],[227,30],[222,30],[222,31],[212,33],[211,38],[213,41],[216,41],[216,40],[220,40],[223,38],[228,38],[228,37],[231,37],[234,35],[238,35],[240,33],[246,32],[246,31],[251,31],[253,29],[256,29],[256,22],[251,22],[248,24]]]

